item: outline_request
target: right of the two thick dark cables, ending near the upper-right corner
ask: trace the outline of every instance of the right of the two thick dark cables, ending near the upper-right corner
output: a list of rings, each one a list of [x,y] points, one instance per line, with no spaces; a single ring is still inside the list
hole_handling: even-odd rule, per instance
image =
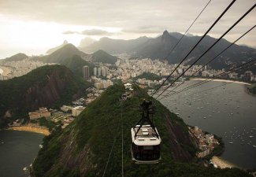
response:
[[[233,24],[230,28],[228,28],[228,30],[225,31],[224,34],[221,35],[221,37],[220,37],[219,39],[217,39],[217,41],[214,42],[213,45],[208,48],[208,50],[206,50],[204,53],[202,53],[202,55],[201,55],[200,57],[198,57],[198,59],[197,59],[196,61],[194,61],[184,72],[182,72],[182,73],[180,74],[180,76],[178,76],[178,77],[173,81],[173,83],[175,83],[178,79],[180,79],[180,77],[183,76],[184,73],[187,72],[187,70],[188,70],[189,68],[191,68],[193,65],[195,65],[195,63],[196,63],[197,61],[199,61],[211,48],[213,48],[213,46],[215,46],[215,45],[217,44],[217,42],[219,42],[219,41],[224,37],[224,35],[226,35],[229,31],[232,30],[232,28],[234,28],[234,27],[236,26],[236,24],[238,24],[241,20],[243,20],[243,18],[246,17],[247,14],[250,13],[250,11],[251,11],[252,9],[254,9],[255,6],[256,6],[256,4],[254,4],[254,6],[252,6],[250,9],[248,9],[247,12],[244,13],[243,16],[240,17],[239,20],[237,20],[235,24]],[[173,83],[171,83],[171,84],[169,85],[169,87],[171,87],[171,86],[173,85]],[[167,90],[169,87],[166,87],[165,90]],[[165,92],[165,90],[163,90],[163,91],[161,92],[161,94],[163,94],[163,93]],[[158,95],[157,98],[159,98],[159,96],[161,96],[161,94]]]

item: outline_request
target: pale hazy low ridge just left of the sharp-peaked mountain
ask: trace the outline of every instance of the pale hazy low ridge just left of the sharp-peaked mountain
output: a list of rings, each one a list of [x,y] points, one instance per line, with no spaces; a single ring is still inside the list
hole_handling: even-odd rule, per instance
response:
[[[94,53],[97,50],[104,50],[110,54],[127,53],[133,51],[136,46],[142,45],[147,42],[146,36],[138,39],[123,40],[123,39],[109,39],[102,38],[97,42],[92,43],[90,46],[80,48],[86,53]]]

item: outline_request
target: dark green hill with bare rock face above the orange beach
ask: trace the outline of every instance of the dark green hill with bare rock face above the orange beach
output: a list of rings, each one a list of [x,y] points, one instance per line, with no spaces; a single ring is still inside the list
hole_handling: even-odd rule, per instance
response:
[[[0,81],[0,127],[13,118],[28,117],[39,107],[59,106],[78,98],[89,83],[63,65],[46,65],[27,75]],[[12,118],[11,118],[12,119]]]

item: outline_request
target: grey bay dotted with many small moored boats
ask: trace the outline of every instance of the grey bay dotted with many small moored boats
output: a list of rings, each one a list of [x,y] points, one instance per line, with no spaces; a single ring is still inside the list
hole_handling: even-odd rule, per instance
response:
[[[169,90],[181,90],[198,82],[186,81]],[[256,168],[256,97],[245,89],[241,83],[211,81],[173,96],[164,93],[161,103],[185,124],[222,137],[225,149],[221,158],[251,169]]]

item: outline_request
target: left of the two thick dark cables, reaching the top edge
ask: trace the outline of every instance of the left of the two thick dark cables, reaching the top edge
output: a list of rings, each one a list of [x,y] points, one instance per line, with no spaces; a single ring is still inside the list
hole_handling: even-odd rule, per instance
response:
[[[187,58],[187,56],[195,49],[196,46],[198,46],[199,42],[202,41],[202,39],[204,39],[206,37],[206,35],[208,34],[208,32],[215,26],[215,24],[217,24],[217,22],[219,20],[221,20],[221,17],[224,16],[224,13],[226,13],[228,11],[228,9],[234,4],[234,2],[236,2],[236,0],[233,0],[226,9],[224,9],[224,11],[221,13],[221,15],[217,18],[217,20],[214,21],[214,23],[210,26],[210,28],[206,31],[206,33],[204,35],[202,35],[201,39],[198,40],[198,42],[195,44],[195,46],[193,46],[193,48],[187,53],[187,55],[184,57],[184,59],[182,59],[182,61],[180,61],[180,64],[176,66],[176,68],[174,68],[173,72],[176,71],[176,69],[183,63],[183,61]],[[161,83],[160,87],[158,87],[157,90],[154,91],[154,93],[152,94],[152,97],[154,96],[154,94],[156,94],[158,92],[158,90],[165,84],[166,80],[169,79],[170,76],[173,75],[173,72],[171,72],[171,74],[165,79],[165,81],[163,83]]]

